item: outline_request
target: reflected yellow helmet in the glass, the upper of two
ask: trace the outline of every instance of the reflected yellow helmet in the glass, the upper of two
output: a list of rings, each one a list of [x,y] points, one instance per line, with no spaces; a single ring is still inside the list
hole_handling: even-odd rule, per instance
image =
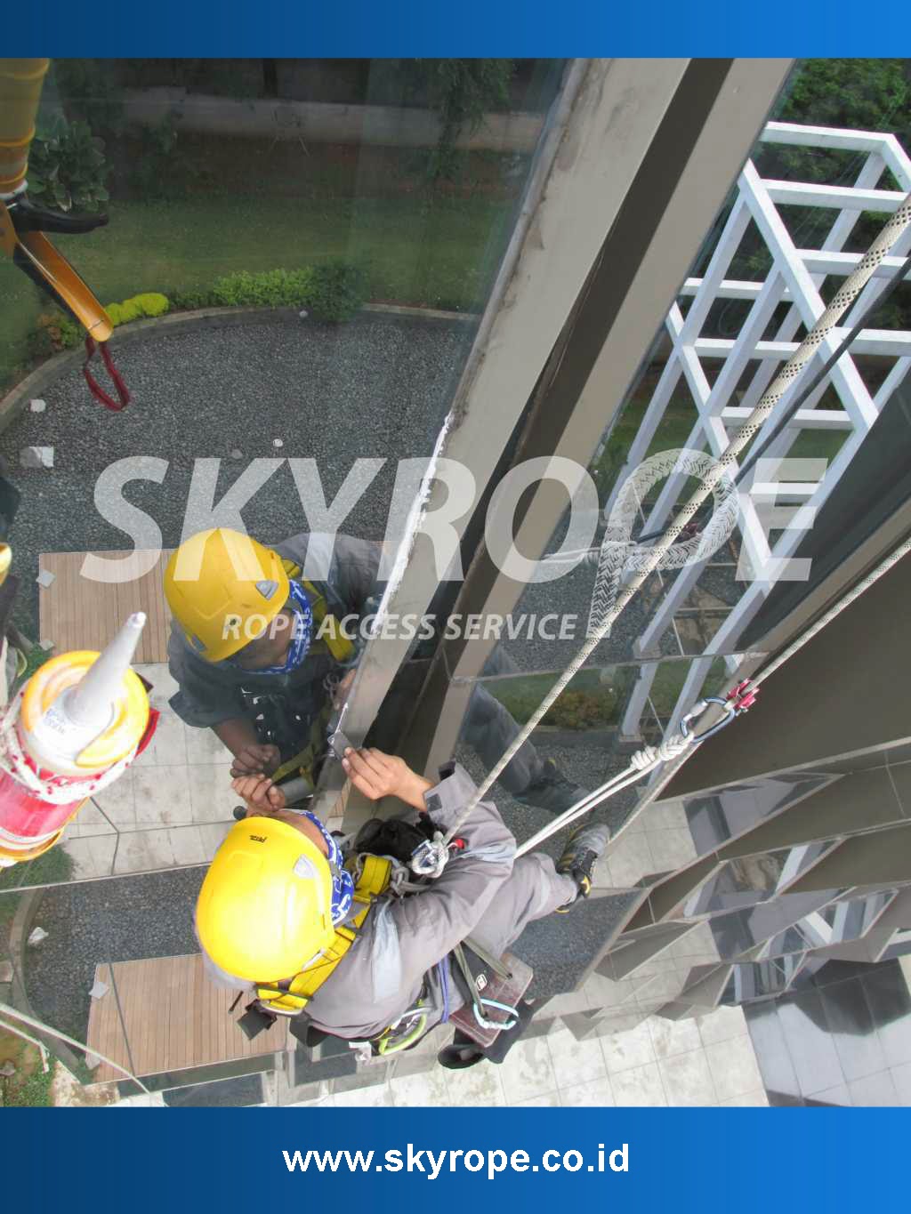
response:
[[[288,600],[278,552],[227,527],[198,532],[172,554],[164,594],[206,662],[223,662],[266,630]]]

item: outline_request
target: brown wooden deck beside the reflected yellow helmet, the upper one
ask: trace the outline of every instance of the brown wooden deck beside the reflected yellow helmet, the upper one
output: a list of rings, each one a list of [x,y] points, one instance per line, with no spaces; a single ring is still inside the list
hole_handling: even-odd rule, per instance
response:
[[[39,569],[53,574],[50,586],[39,583],[40,640],[52,641],[57,653],[70,649],[102,649],[126,617],[145,611],[148,620],[135,660],[166,662],[171,613],[164,597],[164,567],[172,549],[163,549],[149,573],[129,582],[91,582],[81,575],[85,552],[43,552]],[[147,554],[98,552],[123,558],[124,573],[134,574]]]

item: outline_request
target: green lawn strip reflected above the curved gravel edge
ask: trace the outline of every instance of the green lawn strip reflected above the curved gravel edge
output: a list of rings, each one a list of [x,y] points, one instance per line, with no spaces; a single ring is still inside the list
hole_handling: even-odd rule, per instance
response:
[[[119,202],[107,228],[55,243],[104,304],[208,285],[236,270],[293,270],[344,256],[368,268],[374,300],[474,310],[496,271],[510,210],[480,195],[432,204],[409,195]],[[0,381],[9,382],[49,305],[6,260],[0,297]]]

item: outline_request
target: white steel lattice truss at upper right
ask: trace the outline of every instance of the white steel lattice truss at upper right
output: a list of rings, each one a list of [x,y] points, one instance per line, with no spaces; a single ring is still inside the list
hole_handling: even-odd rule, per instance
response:
[[[798,330],[802,327],[811,328],[824,312],[821,288],[826,279],[830,276],[847,277],[860,261],[860,253],[845,253],[843,246],[861,212],[865,210],[892,212],[911,191],[911,158],[894,135],[769,123],[760,140],[765,143],[851,152],[860,163],[860,170],[853,185],[826,186],[763,178],[756,165],[747,161],[737,181],[736,199],[703,276],[688,278],[683,285],[680,299],[691,300],[689,310],[684,314],[680,302],[675,301],[667,316],[666,329],[670,339],[670,353],[651,395],[635,439],[627,453],[624,467],[605,506],[605,518],[610,515],[623,481],[651,448],[674,392],[680,385],[685,386],[696,408],[696,420],[683,446],[707,450],[715,456],[720,455],[728,447],[729,436],[748,416],[773,380],[779,364],[797,348]],[[887,170],[898,183],[898,191],[879,188]],[[805,249],[794,244],[780,210],[788,205],[816,208],[824,214],[832,212],[831,225],[827,222],[819,225],[822,228],[827,227],[827,234],[819,248]],[[756,225],[771,257],[770,268],[763,282],[728,277],[751,221]],[[844,327],[830,334],[822,344],[819,352],[821,359],[834,352],[858,318],[879,297],[910,249],[911,233],[907,233],[867,283],[851,312],[845,317]],[[718,300],[749,302],[747,316],[734,340],[702,335],[706,320]],[[791,307],[779,324],[774,339],[768,340],[766,329],[781,304],[790,304]],[[892,367],[876,392],[871,393],[865,385],[854,359],[855,354],[875,354],[892,361]],[[718,362],[722,365],[712,382],[705,364],[717,365]],[[757,444],[777,426],[793,399],[793,393],[803,390],[817,368],[816,359],[808,364],[804,374],[797,379],[768,419],[756,439]],[[739,579],[742,579],[743,594],[702,656],[691,662],[670,717],[672,728],[698,696],[706,675],[719,654],[728,654],[730,669],[736,666],[739,657],[731,654],[731,649],[775,582],[782,575],[792,578],[800,575],[799,569],[794,567],[788,569],[788,562],[802,534],[811,526],[815,512],[837,484],[879,410],[901,384],[909,369],[911,369],[911,333],[861,330],[850,352],[838,359],[745,478],[740,487],[739,520],[741,539]],[[827,402],[826,408],[816,408],[830,387],[837,397],[837,403]],[[781,461],[788,456],[798,437],[810,430],[844,433],[844,441],[834,458],[808,460],[807,467],[798,467],[794,464],[782,471]],[[655,505],[644,518],[643,534],[660,531],[668,523],[681,499],[684,487],[685,477],[673,475],[668,477]],[[783,506],[790,507],[790,518],[788,524],[781,529]],[[794,507],[799,510],[796,511]],[[777,538],[770,541],[769,534],[773,529]],[[686,567],[673,582],[664,584],[657,608],[639,637],[638,657],[658,656],[657,646],[661,636],[674,623],[677,613],[692,592],[705,567],[705,563]],[[653,662],[645,663],[640,669],[622,727],[622,732],[629,737],[640,734],[643,716],[649,714],[649,697],[656,671],[657,664]]]

